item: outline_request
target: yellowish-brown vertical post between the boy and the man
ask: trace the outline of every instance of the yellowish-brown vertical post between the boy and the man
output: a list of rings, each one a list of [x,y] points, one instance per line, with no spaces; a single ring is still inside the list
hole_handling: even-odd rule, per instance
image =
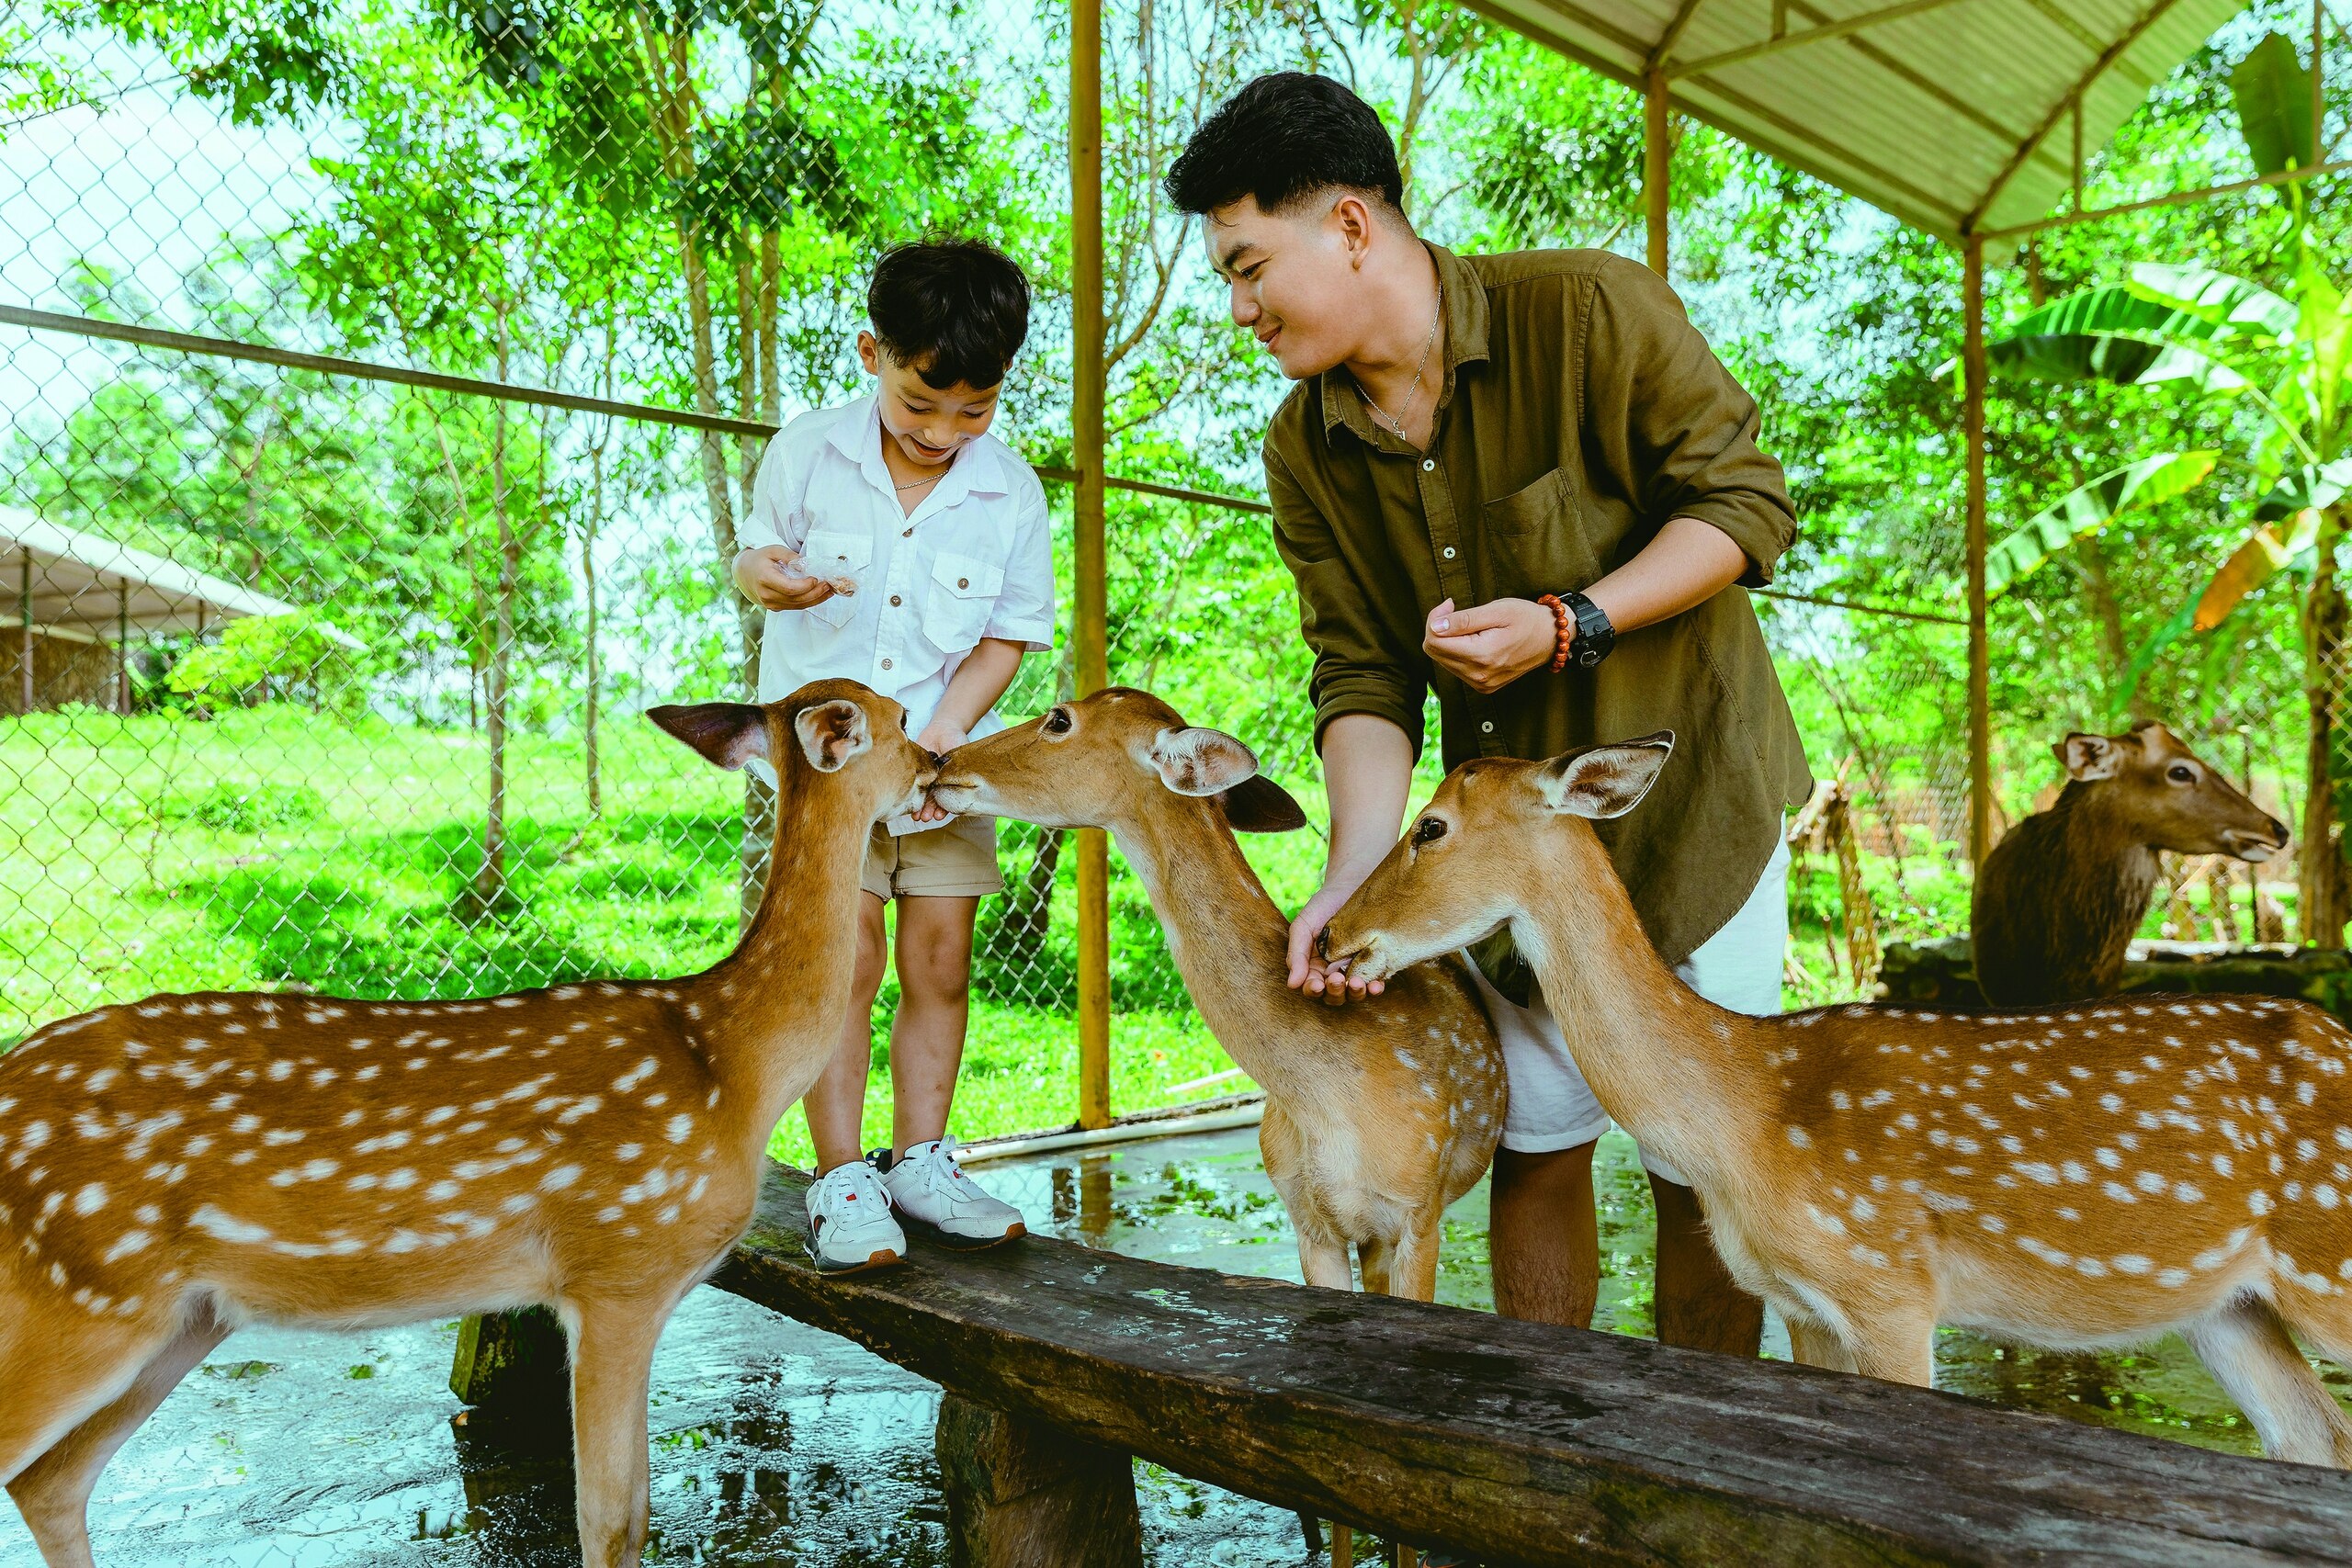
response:
[[[1110,684],[1103,585],[1103,7],[1070,5],[1070,468],[1077,693]],[[1110,844],[1077,835],[1077,1124],[1110,1126]]]

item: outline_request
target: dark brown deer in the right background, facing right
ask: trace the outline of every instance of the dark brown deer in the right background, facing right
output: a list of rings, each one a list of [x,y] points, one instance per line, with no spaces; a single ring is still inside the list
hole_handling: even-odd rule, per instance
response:
[[[2058,802],[2011,827],[1976,877],[1976,983],[1992,1006],[2112,997],[2159,849],[2253,865],[2286,849],[2286,823],[2154,719],[2051,750]]]

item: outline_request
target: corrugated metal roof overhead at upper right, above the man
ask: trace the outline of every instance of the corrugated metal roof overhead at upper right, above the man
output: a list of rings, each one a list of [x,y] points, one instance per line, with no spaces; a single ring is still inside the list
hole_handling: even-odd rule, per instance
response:
[[[2244,0],[1470,0],[1943,240],[2049,216]],[[1773,19],[1780,16],[1776,38]]]

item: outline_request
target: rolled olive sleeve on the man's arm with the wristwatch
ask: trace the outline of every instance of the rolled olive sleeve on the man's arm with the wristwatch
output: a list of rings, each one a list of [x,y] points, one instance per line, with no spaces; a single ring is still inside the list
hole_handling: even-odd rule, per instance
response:
[[[1797,508],[1780,463],[1757,447],[1757,402],[1637,261],[1611,259],[1592,280],[1583,402],[1588,440],[1644,517],[1715,524],[1748,557],[1740,583],[1771,583]]]

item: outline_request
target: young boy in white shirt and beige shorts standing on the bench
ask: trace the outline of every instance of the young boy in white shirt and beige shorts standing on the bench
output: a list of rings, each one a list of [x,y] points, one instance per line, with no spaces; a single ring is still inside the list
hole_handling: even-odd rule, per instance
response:
[[[760,701],[818,677],[861,679],[906,705],[915,743],[950,752],[1002,729],[990,712],[1021,656],[1054,646],[1044,489],[988,435],[1028,336],[1028,280],[988,244],[906,244],[875,266],[858,360],[870,395],[786,425],[760,461],[736,588],[762,604]],[[809,1091],[818,1180],[816,1262],[896,1262],[896,1208],[957,1246],[1023,1234],[1021,1211],[955,1164],[948,1105],[964,1058],[971,922],[997,875],[995,818],[924,804],[875,827],[858,898],[849,1020]],[[891,1147],[858,1154],[882,905],[898,900]],[[880,1166],[880,1168],[877,1168]]]

